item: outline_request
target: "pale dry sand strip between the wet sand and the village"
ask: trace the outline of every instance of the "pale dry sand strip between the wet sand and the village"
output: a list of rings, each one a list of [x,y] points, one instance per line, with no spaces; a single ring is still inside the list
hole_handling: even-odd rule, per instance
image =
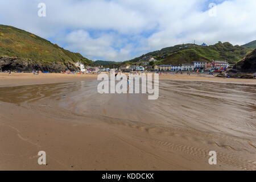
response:
[[[237,78],[217,78],[210,75],[180,75],[180,74],[162,74],[159,76],[161,80],[180,80],[180,81],[207,81],[207,82],[223,82],[234,84],[256,84],[253,79],[237,79]],[[53,84],[57,82],[74,82],[84,80],[97,80],[97,74],[88,75],[67,75],[60,73],[32,75],[32,73],[0,73],[0,86],[20,86],[20,85],[36,85],[36,84]]]

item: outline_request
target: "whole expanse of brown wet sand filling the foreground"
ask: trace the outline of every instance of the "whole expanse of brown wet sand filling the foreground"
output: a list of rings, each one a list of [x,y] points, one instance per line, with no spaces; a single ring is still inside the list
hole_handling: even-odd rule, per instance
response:
[[[150,101],[72,76],[0,78],[0,170],[256,170],[254,80],[161,76]]]

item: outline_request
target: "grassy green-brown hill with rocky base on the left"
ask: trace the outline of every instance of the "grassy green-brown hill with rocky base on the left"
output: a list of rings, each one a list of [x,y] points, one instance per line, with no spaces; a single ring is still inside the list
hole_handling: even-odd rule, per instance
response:
[[[9,68],[18,71],[41,69],[59,72],[76,70],[74,64],[77,61],[92,64],[80,53],[67,51],[30,32],[5,25],[0,25],[0,57],[0,70],[2,68],[3,71]],[[10,61],[10,57],[13,61]]]

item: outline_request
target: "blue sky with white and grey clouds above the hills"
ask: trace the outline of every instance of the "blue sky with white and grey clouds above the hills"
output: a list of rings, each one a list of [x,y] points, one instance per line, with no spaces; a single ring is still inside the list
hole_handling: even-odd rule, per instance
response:
[[[255,0],[0,0],[0,24],[91,60],[125,61],[194,40],[256,40],[255,9]]]

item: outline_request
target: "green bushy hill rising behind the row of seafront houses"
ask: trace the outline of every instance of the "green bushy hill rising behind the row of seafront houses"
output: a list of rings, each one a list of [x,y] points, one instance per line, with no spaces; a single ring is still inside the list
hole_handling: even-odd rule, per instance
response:
[[[160,51],[154,51],[142,55],[129,62],[143,60],[144,57],[154,57],[158,64],[183,64],[193,61],[226,60],[230,64],[235,64],[251,52],[251,48],[243,46],[233,46],[225,42],[218,42],[212,46],[198,46],[195,44],[181,44],[173,47],[163,48]],[[125,63],[128,61],[125,61]]]

